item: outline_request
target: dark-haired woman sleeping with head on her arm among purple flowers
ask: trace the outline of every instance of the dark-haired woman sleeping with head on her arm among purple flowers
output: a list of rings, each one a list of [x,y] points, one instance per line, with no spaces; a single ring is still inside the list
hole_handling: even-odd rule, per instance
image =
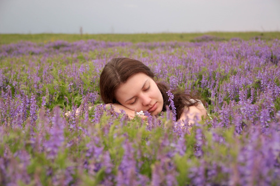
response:
[[[167,95],[169,88],[155,77],[150,68],[138,60],[113,58],[100,75],[101,99],[106,106],[112,105],[115,112],[124,110],[130,118],[134,118],[136,112],[144,110],[156,116],[166,110],[170,101]],[[201,101],[182,91],[172,93],[176,121],[188,119],[192,123],[195,118],[206,118],[206,110]]]

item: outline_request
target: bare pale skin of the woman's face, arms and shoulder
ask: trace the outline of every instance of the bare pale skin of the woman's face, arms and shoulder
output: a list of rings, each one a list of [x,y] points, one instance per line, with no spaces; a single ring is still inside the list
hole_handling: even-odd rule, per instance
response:
[[[135,117],[135,112],[146,110],[152,116],[158,115],[163,108],[163,98],[155,81],[144,73],[137,73],[130,76],[127,81],[120,85],[115,92],[115,97],[120,104],[106,104],[106,108],[111,105],[115,112],[124,110],[129,118]],[[77,109],[76,114],[79,112]],[[68,113],[69,115],[69,113]],[[180,121],[188,120],[188,124],[194,123],[196,118],[201,120],[206,118],[206,110],[203,105],[186,107],[180,117]],[[139,116],[146,119],[146,116]]]

